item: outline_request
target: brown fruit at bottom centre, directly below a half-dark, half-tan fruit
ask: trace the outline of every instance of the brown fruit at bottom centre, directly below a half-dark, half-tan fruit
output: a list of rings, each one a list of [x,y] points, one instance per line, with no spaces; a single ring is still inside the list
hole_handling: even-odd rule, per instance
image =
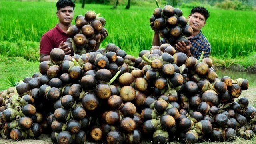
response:
[[[126,117],[119,121],[120,129],[125,133],[131,133],[136,128],[136,123],[132,118]]]

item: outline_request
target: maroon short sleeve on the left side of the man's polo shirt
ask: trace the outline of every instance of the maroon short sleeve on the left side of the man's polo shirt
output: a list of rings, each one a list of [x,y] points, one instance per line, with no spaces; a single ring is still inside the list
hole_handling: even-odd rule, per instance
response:
[[[52,38],[47,34],[44,34],[40,40],[40,54],[50,55],[52,49]]]

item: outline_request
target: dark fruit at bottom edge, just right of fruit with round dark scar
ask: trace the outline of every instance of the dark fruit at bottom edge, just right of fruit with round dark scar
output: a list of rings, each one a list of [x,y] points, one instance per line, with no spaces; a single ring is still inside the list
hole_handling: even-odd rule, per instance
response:
[[[120,130],[111,130],[107,134],[108,144],[122,144],[124,143],[124,134]]]

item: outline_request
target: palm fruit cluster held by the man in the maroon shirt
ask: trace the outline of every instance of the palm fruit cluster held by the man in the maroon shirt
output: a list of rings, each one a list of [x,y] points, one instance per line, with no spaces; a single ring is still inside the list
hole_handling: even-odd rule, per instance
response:
[[[106,32],[108,35],[108,31],[104,28],[106,20],[99,15],[100,13],[96,15],[94,11],[89,10],[84,16],[76,16],[76,24],[71,25],[67,31],[70,38],[64,42],[68,44],[72,52],[80,55],[90,52],[100,42],[101,34],[104,35]]]

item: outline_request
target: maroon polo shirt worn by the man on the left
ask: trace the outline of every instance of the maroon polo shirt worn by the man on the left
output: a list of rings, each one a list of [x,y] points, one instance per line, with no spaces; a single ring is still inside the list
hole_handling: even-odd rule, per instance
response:
[[[50,55],[54,48],[58,48],[60,42],[66,42],[68,34],[63,32],[57,24],[54,28],[46,32],[40,40],[40,54]]]

